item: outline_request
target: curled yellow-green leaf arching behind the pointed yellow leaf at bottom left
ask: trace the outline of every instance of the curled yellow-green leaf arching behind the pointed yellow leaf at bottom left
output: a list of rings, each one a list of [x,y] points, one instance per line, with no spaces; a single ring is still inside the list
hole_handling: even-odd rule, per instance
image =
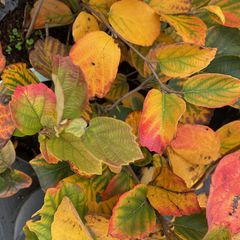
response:
[[[42,208],[35,213],[40,220],[35,222],[28,221],[27,227],[36,234],[38,240],[52,240],[51,224],[54,221],[54,214],[64,197],[68,197],[81,219],[86,213],[86,198],[81,188],[71,183],[62,183],[58,188],[49,188],[44,198]]]

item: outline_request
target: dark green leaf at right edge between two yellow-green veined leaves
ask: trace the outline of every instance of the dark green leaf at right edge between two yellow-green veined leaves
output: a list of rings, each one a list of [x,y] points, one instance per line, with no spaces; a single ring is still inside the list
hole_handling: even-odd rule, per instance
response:
[[[221,73],[240,78],[240,57],[222,56],[215,58],[207,68],[205,73]]]

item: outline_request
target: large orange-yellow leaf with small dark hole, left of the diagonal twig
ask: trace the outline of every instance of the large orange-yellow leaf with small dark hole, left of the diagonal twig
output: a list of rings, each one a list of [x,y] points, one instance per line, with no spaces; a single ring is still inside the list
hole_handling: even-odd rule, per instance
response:
[[[117,75],[120,54],[114,39],[103,31],[90,32],[73,45],[70,58],[83,71],[90,98],[108,93]]]

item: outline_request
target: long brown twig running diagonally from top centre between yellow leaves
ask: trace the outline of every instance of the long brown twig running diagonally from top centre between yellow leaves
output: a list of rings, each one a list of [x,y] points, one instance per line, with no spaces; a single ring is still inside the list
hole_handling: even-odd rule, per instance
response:
[[[117,36],[119,39],[121,39],[129,48],[131,48],[139,57],[141,57],[146,64],[148,65],[148,67],[150,68],[153,76],[158,80],[159,84],[160,84],[160,88],[162,91],[167,92],[167,93],[175,93],[177,95],[182,95],[182,92],[180,91],[175,91],[171,88],[168,88],[164,83],[161,82],[161,80],[158,77],[158,74],[156,73],[152,62],[146,58],[142,53],[140,53],[131,43],[129,43],[124,37],[122,37],[118,32],[116,32],[112,26],[105,20],[104,16],[102,16],[102,14],[98,11],[96,11],[95,9],[91,8],[88,4],[86,3],[82,3],[82,5],[89,11],[92,12],[94,15],[96,15],[98,17],[98,19],[100,19],[100,21],[111,31],[111,33],[114,36]]]

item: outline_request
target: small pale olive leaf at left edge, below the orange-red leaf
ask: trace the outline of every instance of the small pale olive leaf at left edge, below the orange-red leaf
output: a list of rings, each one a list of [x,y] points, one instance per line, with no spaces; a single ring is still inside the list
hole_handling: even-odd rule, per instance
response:
[[[16,158],[13,143],[8,141],[7,144],[0,150],[0,174],[3,173],[14,163]]]

